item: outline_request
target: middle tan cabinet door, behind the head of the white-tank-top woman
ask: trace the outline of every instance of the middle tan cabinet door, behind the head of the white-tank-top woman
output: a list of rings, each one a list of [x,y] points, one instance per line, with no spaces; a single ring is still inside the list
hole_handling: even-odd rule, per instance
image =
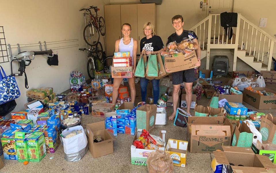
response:
[[[124,23],[129,23],[131,25],[130,36],[133,39],[138,40],[137,4],[121,5],[121,25],[123,25]]]

